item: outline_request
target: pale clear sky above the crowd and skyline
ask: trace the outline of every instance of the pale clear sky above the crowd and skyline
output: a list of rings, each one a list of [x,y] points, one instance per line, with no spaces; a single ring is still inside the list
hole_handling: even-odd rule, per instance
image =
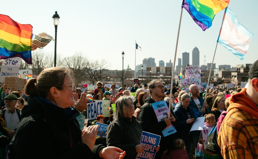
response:
[[[214,63],[231,65],[253,63],[258,59],[258,21],[257,0],[231,0],[228,7],[237,16],[238,21],[254,36],[249,43],[248,54],[244,60],[233,55],[218,44]],[[109,62],[107,69],[122,70],[135,67],[135,40],[142,48],[136,50],[136,65],[142,64],[144,58],[155,58],[165,63],[174,62],[177,32],[181,13],[181,0],[12,0],[1,3],[0,14],[8,15],[21,24],[31,24],[33,34],[46,32],[55,38],[55,26],[52,16],[55,11],[60,16],[57,27],[57,55],[67,57],[81,54],[90,60],[105,59]],[[212,26],[206,31],[193,21],[183,9],[179,41],[176,55],[182,58],[183,52],[190,53],[197,47],[200,51],[200,65],[211,63],[217,43],[218,33],[224,10],[215,15]],[[42,53],[54,54],[55,42],[51,41]],[[33,54],[33,52],[32,52]]]

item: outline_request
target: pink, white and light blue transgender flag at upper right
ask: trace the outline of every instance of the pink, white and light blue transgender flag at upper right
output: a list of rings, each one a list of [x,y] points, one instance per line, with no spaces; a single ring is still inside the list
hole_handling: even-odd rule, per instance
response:
[[[227,7],[217,42],[243,60],[253,35],[238,23],[235,14]]]

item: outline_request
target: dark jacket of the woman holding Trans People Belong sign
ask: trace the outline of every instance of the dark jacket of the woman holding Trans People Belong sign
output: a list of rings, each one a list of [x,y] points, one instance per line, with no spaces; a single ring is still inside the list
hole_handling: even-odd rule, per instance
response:
[[[135,146],[140,144],[142,128],[134,116],[131,118],[119,117],[113,120],[107,128],[107,145],[115,146],[125,151],[125,159],[135,159]]]

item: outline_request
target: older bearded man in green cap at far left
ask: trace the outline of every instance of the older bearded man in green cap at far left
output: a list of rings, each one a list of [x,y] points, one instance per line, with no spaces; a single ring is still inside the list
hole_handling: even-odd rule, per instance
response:
[[[9,94],[4,98],[4,103],[6,108],[4,110],[0,110],[0,118],[4,121],[1,124],[8,132],[8,135],[12,138],[21,122],[20,111],[15,107],[17,103],[16,95]]]

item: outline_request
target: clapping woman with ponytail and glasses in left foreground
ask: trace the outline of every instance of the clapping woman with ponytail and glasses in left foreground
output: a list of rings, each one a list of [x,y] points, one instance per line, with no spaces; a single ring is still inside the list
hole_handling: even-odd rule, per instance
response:
[[[9,158],[123,158],[116,147],[94,146],[98,126],[83,131],[73,109],[75,88],[69,68],[51,67],[25,85],[29,96],[9,145]],[[86,154],[86,156],[85,156]]]

